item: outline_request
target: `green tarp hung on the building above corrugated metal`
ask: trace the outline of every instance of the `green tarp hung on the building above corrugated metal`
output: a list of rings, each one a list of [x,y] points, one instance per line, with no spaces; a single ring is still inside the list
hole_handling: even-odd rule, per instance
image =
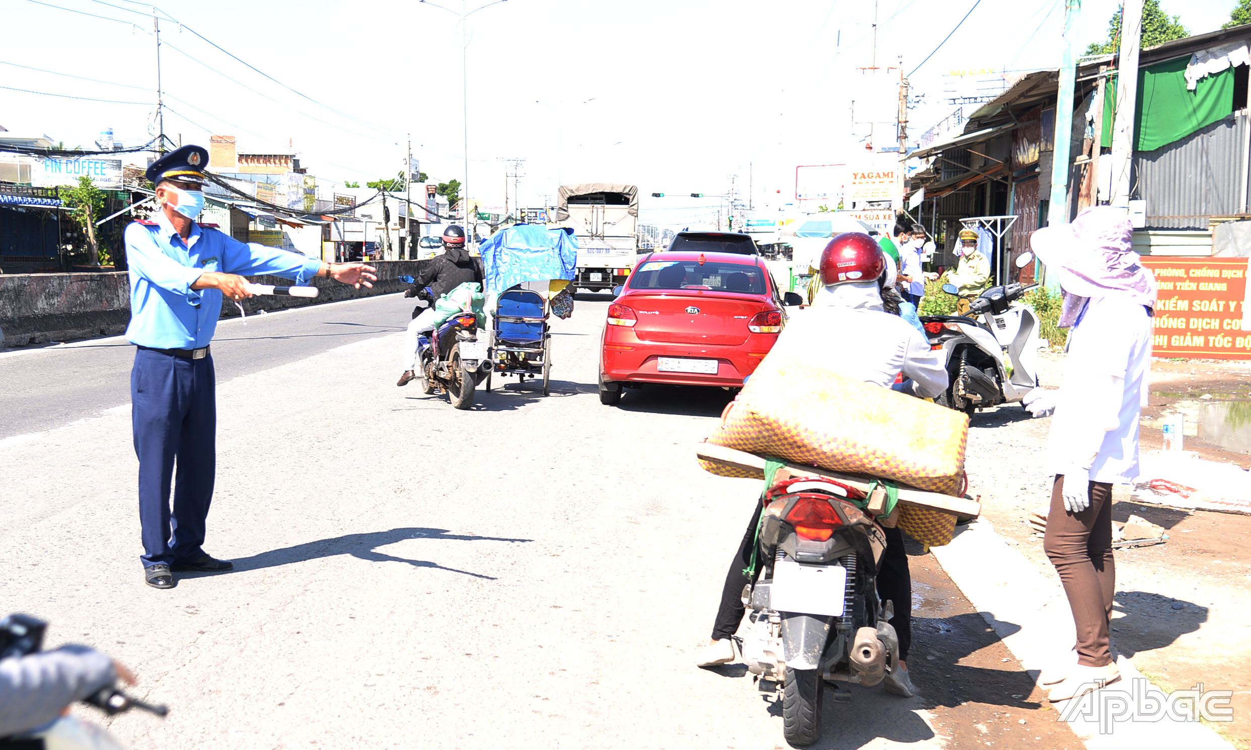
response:
[[[1155,151],[1227,118],[1233,112],[1233,69],[1226,69],[1186,89],[1190,58],[1177,58],[1138,69],[1138,101],[1133,108],[1133,149]],[[1103,88],[1103,132],[1100,142],[1112,146],[1116,78]]]

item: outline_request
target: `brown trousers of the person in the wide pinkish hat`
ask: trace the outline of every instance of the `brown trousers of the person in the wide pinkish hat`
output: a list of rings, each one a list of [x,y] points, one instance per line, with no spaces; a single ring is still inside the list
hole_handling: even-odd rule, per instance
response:
[[[1065,510],[1065,478],[1056,476],[1042,549],[1047,552],[1068,596],[1077,625],[1077,664],[1106,666],[1112,662],[1108,624],[1116,592],[1112,559],[1112,485],[1090,482],[1091,504],[1072,514]]]

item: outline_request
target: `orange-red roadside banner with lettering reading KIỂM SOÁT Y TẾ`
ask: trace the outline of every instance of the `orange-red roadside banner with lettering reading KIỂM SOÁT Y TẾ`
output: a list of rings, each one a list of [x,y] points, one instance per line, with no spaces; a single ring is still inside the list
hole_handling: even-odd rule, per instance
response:
[[[1251,359],[1246,258],[1143,256],[1156,276],[1155,356]]]

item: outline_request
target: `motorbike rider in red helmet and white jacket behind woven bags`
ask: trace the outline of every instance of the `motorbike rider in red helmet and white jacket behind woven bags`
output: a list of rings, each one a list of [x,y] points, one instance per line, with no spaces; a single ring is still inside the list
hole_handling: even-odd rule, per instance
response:
[[[821,255],[822,289],[812,309],[787,322],[768,356],[803,359],[831,372],[872,382],[918,398],[933,398],[947,390],[948,378],[940,352],[929,349],[924,332],[898,312],[888,312],[882,301],[887,261],[873,238],[847,232],[836,236]],[[893,296],[893,295],[892,295]],[[782,354],[778,354],[782,352]],[[904,380],[894,384],[903,374]],[[699,666],[717,666],[734,660],[731,636],[743,620],[742,591],[747,585],[743,570],[751,566],[756,545],[756,526],[762,505],[731,562],[722,589],[721,605],[713,624],[712,641],[697,659]],[[883,680],[896,695],[914,694],[908,678],[907,658],[912,642],[912,578],[908,555],[899,529],[886,531],[886,551],[878,562],[877,592],[894,604],[889,620],[899,638],[899,669]]]

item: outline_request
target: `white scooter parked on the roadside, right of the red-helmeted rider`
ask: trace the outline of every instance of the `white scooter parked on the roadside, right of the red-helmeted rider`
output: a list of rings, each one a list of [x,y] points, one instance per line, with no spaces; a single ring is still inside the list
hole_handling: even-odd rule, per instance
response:
[[[1033,261],[1032,252],[1016,260]],[[1021,401],[1038,385],[1038,318],[1017,300],[1037,285],[992,286],[970,302],[965,315],[926,315],[921,322],[932,348],[946,355],[951,385],[936,402],[965,411]],[[955,295],[956,288],[943,284]]]

